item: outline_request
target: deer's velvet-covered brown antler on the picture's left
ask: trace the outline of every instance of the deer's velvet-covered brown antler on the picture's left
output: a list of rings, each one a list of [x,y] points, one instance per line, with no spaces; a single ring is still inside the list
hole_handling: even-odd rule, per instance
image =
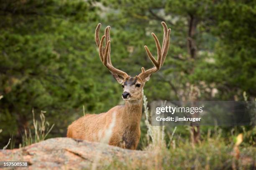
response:
[[[110,26],[105,28],[105,35],[101,37],[101,40],[99,37],[100,26],[101,24],[99,23],[95,30],[95,41],[97,46],[99,47],[100,60],[103,63],[103,65],[105,65],[105,67],[107,67],[108,70],[110,70],[110,72],[113,74],[113,76],[116,79],[118,78],[118,76],[125,79],[125,77],[128,77],[128,74],[126,74],[126,72],[123,72],[115,68],[112,65],[112,62],[110,59]],[[104,39],[105,39],[105,47],[103,47]]]

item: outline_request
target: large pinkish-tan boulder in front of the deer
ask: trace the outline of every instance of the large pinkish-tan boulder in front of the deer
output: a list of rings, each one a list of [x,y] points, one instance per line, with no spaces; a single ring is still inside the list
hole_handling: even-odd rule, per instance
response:
[[[27,161],[28,169],[72,170],[108,165],[114,160],[123,163],[136,160],[141,165],[149,159],[148,152],[126,150],[103,143],[51,138],[20,149],[0,150],[0,161]],[[20,168],[24,169],[24,168]]]

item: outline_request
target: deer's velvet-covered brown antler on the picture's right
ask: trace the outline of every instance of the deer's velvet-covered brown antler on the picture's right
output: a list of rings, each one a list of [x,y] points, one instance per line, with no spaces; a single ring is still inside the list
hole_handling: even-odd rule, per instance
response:
[[[148,50],[148,47],[145,45],[145,50],[148,54],[148,57],[153,62],[154,67],[151,69],[148,69],[145,71],[144,67],[141,68],[141,74],[138,76],[143,80],[149,75],[153,74],[154,72],[157,72],[161,66],[164,64],[168,49],[169,49],[169,42],[170,42],[170,32],[171,29],[167,28],[166,23],[162,22],[163,28],[164,28],[164,39],[162,47],[160,46],[159,40],[157,39],[156,35],[152,32],[151,35],[154,37],[154,40],[156,42],[156,49],[157,49],[157,60],[153,57],[151,52]]]

